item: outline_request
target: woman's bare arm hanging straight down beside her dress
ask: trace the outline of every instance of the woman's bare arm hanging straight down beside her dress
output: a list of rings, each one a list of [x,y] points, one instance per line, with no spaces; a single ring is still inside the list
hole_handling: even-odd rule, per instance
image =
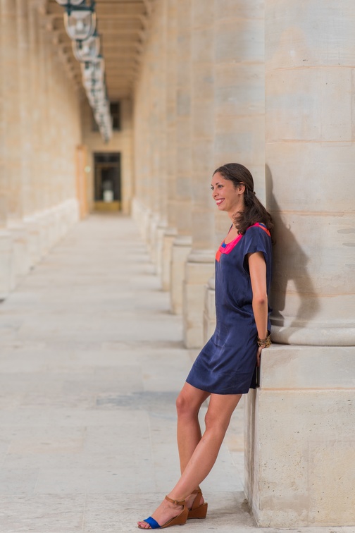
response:
[[[253,312],[259,338],[268,336],[268,293],[266,290],[266,262],[262,252],[248,254],[251,290],[253,291]],[[261,349],[257,353],[260,364]]]

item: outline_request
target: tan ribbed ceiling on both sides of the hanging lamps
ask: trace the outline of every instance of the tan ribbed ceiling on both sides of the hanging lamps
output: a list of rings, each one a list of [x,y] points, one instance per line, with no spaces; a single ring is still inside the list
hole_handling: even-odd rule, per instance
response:
[[[96,0],[96,29],[105,60],[106,87],[111,101],[130,97],[139,68],[139,57],[147,34],[154,0]],[[81,86],[80,63],[75,59],[63,24],[64,8],[46,0],[44,16],[68,71]]]

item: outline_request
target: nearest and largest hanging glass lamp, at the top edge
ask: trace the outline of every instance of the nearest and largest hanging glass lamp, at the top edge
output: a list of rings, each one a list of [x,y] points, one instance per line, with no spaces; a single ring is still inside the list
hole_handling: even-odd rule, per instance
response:
[[[84,41],[94,35],[96,28],[96,13],[94,10],[95,2],[92,1],[90,6],[80,4],[73,6],[66,4],[64,13],[64,26],[70,39],[73,41]]]

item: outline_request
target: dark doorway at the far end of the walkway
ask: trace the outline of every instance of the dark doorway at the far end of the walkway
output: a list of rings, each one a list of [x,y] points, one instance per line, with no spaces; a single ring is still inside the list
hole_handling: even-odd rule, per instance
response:
[[[95,209],[118,211],[121,207],[120,154],[101,152],[94,154]]]

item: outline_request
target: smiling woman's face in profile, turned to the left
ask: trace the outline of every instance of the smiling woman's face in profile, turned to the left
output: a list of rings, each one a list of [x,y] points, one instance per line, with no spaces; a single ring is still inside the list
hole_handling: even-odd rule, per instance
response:
[[[219,211],[226,211],[228,214],[234,215],[237,211],[243,209],[244,190],[244,183],[237,185],[235,188],[234,183],[223,178],[219,172],[216,172],[212,178],[212,197]]]

